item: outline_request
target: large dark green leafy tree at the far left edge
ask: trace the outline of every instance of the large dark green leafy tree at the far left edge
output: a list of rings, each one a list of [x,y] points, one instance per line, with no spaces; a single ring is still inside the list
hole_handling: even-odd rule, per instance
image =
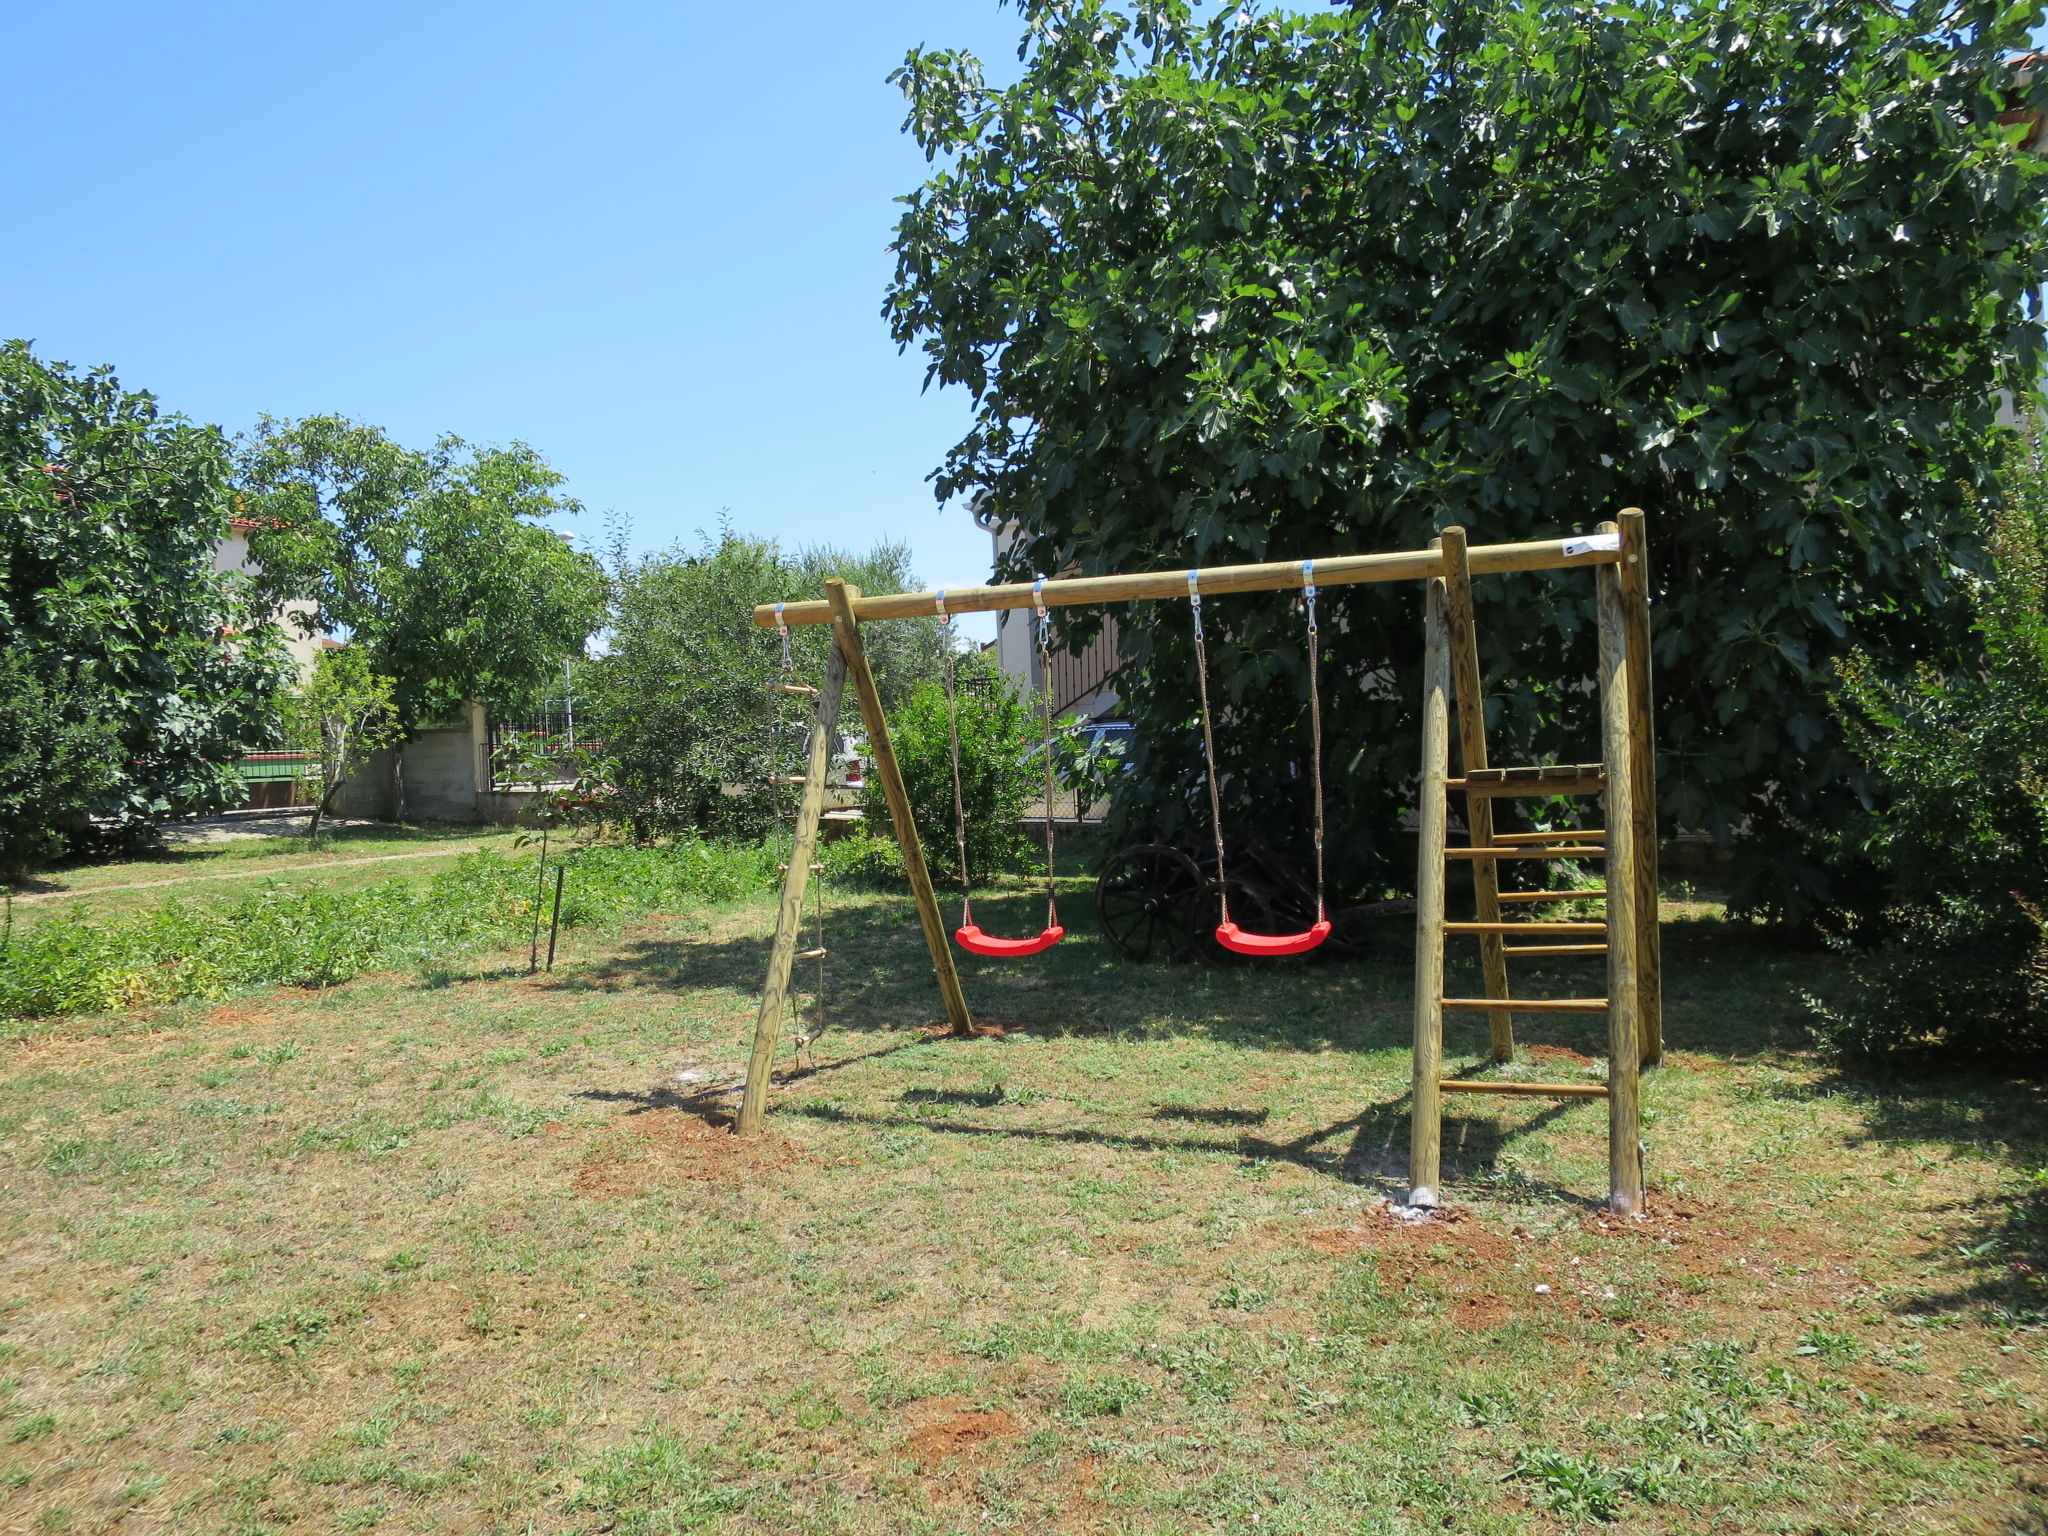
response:
[[[213,569],[229,449],[111,369],[0,346],[0,653],[14,694],[10,840],[37,858],[86,817],[135,834],[242,797],[287,678],[242,578]],[[109,741],[115,743],[109,750]]]

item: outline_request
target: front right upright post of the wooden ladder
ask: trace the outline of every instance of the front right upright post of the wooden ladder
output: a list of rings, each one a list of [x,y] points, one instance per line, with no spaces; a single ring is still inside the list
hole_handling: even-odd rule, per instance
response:
[[[1612,530],[1614,524],[1606,524]],[[1636,975],[1640,926],[1636,905],[1634,774],[1630,764],[1632,709],[1628,696],[1628,623],[1622,582],[1612,565],[1593,575],[1599,592],[1599,750],[1608,764],[1608,1208],[1642,1210],[1642,1124],[1638,1061],[1642,999]]]

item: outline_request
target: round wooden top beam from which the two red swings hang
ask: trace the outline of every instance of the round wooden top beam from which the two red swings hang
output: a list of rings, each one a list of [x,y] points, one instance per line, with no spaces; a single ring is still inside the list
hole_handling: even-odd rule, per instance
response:
[[[1612,539],[1612,535],[1608,537]],[[1505,571],[1556,571],[1573,565],[1616,565],[1622,555],[1618,541],[1614,549],[1587,547],[1606,543],[1599,535],[1575,535],[1573,539],[1538,539],[1526,545],[1475,545],[1466,551],[1473,575],[1501,575]],[[1362,582],[1417,582],[1427,575],[1442,575],[1444,555],[1436,549],[1411,549],[1393,555],[1335,555],[1315,563],[1317,586],[1358,586]],[[1278,592],[1300,588],[1300,561],[1276,559],[1264,565],[1204,565],[1200,569],[1202,596],[1221,592]],[[1044,584],[1047,608],[1075,608],[1104,602],[1135,602],[1139,598],[1186,598],[1188,571],[1139,571],[1133,575],[1067,575]],[[995,612],[999,608],[1036,606],[1032,582],[1012,586],[961,586],[946,588],[946,612]],[[932,618],[938,614],[936,592],[895,592],[879,598],[858,598],[854,618]],[[754,623],[762,629],[776,627],[774,604],[764,602],[754,610]],[[829,625],[829,602],[784,602],[782,623]]]

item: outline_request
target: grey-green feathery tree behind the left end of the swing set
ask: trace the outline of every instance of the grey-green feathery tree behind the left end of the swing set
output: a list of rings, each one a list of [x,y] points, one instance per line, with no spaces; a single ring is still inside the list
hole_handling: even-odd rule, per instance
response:
[[[696,551],[672,549],[618,571],[610,647],[584,688],[612,758],[612,807],[641,836],[754,838],[786,815],[788,797],[770,780],[801,772],[809,700],[768,692],[782,649],[774,631],[754,625],[754,606],[817,598],[827,575],[866,592],[915,586],[899,545],[784,555],[729,528]],[[887,709],[940,674],[934,621],[870,625],[862,639]],[[817,686],[829,645],[825,625],[791,631],[803,682]],[[858,719],[848,690],[842,729]]]

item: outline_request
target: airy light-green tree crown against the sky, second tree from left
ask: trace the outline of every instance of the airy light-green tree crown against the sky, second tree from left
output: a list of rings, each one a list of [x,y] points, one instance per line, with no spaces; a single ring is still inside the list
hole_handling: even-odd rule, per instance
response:
[[[549,684],[604,621],[604,571],[541,518],[580,512],[524,442],[418,453],[340,416],[264,418],[242,446],[258,590],[391,678],[412,731]]]

